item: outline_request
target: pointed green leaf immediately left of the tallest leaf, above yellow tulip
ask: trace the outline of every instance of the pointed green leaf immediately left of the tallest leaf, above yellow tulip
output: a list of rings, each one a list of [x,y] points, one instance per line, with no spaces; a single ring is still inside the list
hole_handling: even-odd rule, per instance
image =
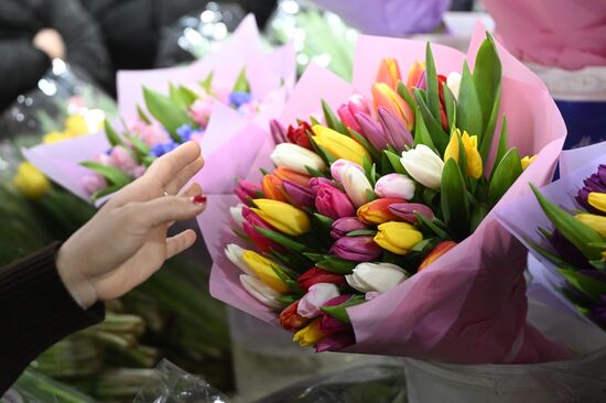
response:
[[[478,139],[481,137],[484,128],[481,108],[467,62],[463,64],[463,78],[461,79],[461,87],[458,90],[456,120],[457,127],[462,131],[466,130],[469,135],[477,135]]]

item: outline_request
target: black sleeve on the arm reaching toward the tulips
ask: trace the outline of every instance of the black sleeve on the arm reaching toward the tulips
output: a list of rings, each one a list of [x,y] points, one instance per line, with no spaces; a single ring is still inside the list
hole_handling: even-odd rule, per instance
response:
[[[72,298],[55,268],[58,243],[0,268],[0,396],[41,352],[69,334],[101,322]]]

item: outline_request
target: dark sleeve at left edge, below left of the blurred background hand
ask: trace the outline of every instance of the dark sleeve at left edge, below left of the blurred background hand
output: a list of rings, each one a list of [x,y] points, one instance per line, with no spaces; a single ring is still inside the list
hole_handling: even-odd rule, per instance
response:
[[[29,40],[0,40],[0,111],[32,88],[51,66],[44,52]]]

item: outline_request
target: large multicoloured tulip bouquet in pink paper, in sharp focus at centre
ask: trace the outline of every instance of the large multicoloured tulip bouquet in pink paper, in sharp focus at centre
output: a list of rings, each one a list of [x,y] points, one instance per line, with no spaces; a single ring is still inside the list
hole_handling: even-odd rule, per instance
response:
[[[493,214],[549,181],[565,129],[544,86],[481,31],[474,57],[472,72],[451,48],[362,37],[357,91],[309,69],[291,126],[273,122],[277,145],[259,155],[262,178],[238,182],[227,219],[239,240],[217,237],[229,198],[199,218],[213,295],[316,351],[566,357],[526,324],[524,250]]]

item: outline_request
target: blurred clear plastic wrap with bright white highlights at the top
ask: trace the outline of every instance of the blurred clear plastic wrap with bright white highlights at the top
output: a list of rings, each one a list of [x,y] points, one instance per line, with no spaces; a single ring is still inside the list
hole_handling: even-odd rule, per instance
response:
[[[217,51],[245,17],[238,3],[214,1],[199,13],[182,17],[162,32],[156,67],[172,67]]]

